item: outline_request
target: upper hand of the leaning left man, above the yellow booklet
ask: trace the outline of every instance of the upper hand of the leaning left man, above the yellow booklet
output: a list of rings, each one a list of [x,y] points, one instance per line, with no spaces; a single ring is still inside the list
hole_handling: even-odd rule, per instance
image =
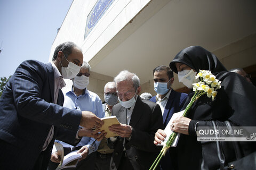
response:
[[[101,128],[103,125],[103,121],[94,115],[92,112],[89,111],[82,111],[82,118],[80,121],[80,125],[84,128]]]

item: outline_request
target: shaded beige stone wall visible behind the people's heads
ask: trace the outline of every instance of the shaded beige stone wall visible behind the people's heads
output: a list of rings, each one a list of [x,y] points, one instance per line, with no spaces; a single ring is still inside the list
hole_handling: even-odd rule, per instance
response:
[[[212,53],[219,58],[221,63],[228,70],[234,67],[243,68],[256,64],[256,33],[225,47],[214,50]],[[99,95],[101,100],[104,101],[104,86],[107,82],[113,80],[113,77],[91,72],[88,89],[95,92],[97,95]],[[181,87],[184,87],[183,84],[179,83],[177,74],[174,74],[174,83],[172,88],[175,90]],[[143,92],[149,92],[153,96],[156,95],[156,92],[154,91],[153,79],[141,84],[140,94]]]

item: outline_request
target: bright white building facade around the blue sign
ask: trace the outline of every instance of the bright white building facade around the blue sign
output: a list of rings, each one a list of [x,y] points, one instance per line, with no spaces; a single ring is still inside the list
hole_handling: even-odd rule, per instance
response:
[[[49,56],[66,41],[73,41],[83,49],[84,61],[89,62],[150,0],[115,0],[84,39],[87,16],[97,0],[73,1],[56,36]]]

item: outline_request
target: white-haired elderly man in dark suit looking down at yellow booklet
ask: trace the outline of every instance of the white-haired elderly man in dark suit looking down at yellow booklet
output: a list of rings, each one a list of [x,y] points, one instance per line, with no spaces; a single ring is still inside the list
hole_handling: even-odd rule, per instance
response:
[[[109,139],[114,143],[110,169],[149,169],[161,149],[153,143],[157,129],[163,128],[161,108],[138,96],[140,80],[134,73],[121,71],[114,81],[119,103],[112,113],[121,124],[109,127],[118,135]]]

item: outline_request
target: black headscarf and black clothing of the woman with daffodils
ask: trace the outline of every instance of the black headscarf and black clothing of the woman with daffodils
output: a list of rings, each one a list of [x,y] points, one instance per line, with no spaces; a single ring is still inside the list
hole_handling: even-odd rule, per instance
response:
[[[252,83],[247,82],[237,73],[228,72],[215,55],[199,46],[187,47],[174,57],[170,67],[175,73],[178,73],[175,67],[176,62],[186,64],[196,72],[210,70],[221,81],[221,88],[217,90],[218,94],[214,101],[203,95],[192,105],[187,115],[193,120],[192,123],[190,122],[191,124],[199,121],[200,126],[208,126],[213,120],[219,125],[225,126],[223,122],[228,120],[234,126],[256,126],[256,88]],[[194,92],[189,95],[185,107],[193,95]],[[195,124],[192,126],[192,131],[194,131],[194,127]],[[241,145],[244,155],[255,151],[253,142],[240,142],[239,145]],[[222,145],[228,162],[234,160],[235,155],[230,148],[227,142]],[[191,135],[181,135],[178,150],[183,153],[178,158],[181,169],[200,169],[201,165],[196,161],[190,162],[189,166],[183,164],[183,161],[190,160],[191,156],[194,160],[200,160],[203,157],[204,163],[209,166],[209,169],[219,168],[215,142],[199,143]]]

